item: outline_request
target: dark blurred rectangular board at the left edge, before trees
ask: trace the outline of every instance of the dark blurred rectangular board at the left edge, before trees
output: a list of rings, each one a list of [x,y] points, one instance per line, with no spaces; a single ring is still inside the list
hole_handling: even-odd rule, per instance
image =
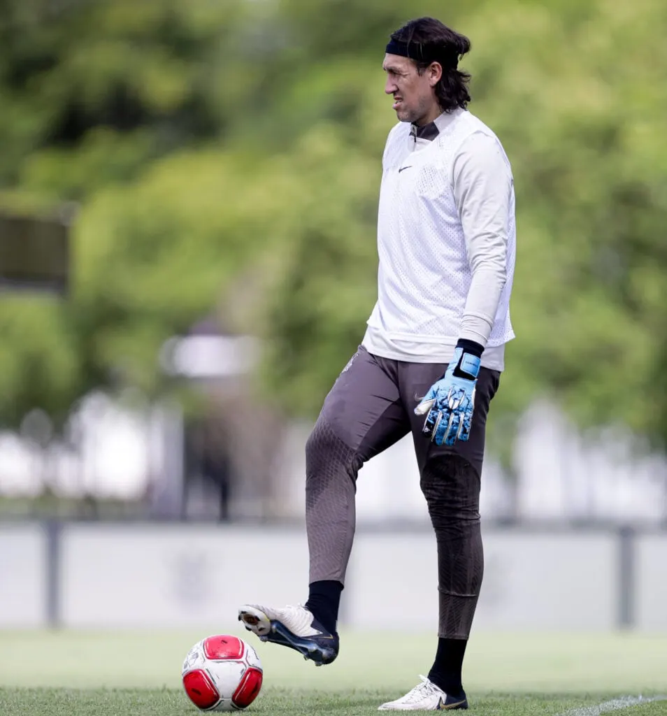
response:
[[[8,216],[0,213],[0,292],[67,293],[67,218]]]

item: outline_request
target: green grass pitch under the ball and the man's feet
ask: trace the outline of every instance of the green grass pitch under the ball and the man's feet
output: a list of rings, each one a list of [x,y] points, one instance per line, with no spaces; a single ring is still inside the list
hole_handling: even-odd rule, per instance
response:
[[[210,633],[0,632],[0,716],[193,716],[180,665]],[[339,658],[318,669],[234,633],[263,662],[263,690],[248,709],[258,716],[375,714],[417,684],[434,652],[423,634],[342,634]],[[479,716],[597,716],[622,705],[600,710],[615,697],[667,696],[667,635],[474,634],[464,685]],[[615,712],[666,716],[667,700]]]

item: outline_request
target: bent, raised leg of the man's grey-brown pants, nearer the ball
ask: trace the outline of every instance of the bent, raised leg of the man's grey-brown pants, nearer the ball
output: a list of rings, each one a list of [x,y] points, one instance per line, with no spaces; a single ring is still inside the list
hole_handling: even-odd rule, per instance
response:
[[[306,443],[311,583],[345,583],[359,468],[409,432],[394,363],[359,349],[327,395]]]

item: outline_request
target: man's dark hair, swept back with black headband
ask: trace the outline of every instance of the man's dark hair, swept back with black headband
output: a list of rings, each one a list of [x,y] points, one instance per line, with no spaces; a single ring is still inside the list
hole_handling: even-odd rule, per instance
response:
[[[469,52],[470,41],[464,35],[442,24],[432,17],[410,20],[391,34],[396,42],[407,43],[410,57],[417,63],[419,74],[432,62],[442,65],[442,77],[434,87],[438,104],[443,112],[452,112],[457,107],[465,109],[470,101],[467,84],[468,72],[462,72],[457,65],[459,57]],[[418,46],[414,47],[413,44]]]

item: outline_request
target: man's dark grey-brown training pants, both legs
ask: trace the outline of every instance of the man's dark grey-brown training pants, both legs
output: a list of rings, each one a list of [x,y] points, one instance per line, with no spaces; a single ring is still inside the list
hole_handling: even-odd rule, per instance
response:
[[[438,446],[423,435],[419,399],[447,365],[354,354],[326,396],[306,444],[310,581],[345,581],[356,521],[359,468],[412,432],[420,486],[438,547],[439,636],[467,639],[482,584],[479,477],[487,412],[500,374],[482,368],[467,442]]]

